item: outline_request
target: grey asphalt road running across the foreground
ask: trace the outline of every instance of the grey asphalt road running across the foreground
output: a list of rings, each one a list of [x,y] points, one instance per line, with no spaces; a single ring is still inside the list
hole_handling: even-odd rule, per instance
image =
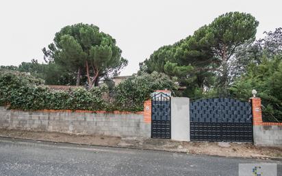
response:
[[[239,163],[281,161],[0,138],[0,175],[238,175]]]

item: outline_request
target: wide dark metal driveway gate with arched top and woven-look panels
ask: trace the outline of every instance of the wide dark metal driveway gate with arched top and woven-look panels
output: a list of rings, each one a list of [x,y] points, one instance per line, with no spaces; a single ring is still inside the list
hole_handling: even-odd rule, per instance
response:
[[[190,140],[253,142],[251,103],[229,98],[191,102]]]

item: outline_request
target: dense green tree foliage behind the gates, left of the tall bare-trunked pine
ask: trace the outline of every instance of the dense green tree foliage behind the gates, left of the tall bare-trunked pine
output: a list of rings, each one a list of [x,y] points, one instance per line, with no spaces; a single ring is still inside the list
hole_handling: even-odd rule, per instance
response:
[[[166,73],[170,77],[177,77],[179,86],[186,87],[181,93],[182,96],[196,97],[198,92],[203,94],[203,88],[210,84],[213,75],[205,70],[209,65],[210,57],[196,51],[196,46],[192,45],[192,42],[192,36],[188,36],[174,45],[159,48],[149,59],[140,63],[140,72],[157,71]]]

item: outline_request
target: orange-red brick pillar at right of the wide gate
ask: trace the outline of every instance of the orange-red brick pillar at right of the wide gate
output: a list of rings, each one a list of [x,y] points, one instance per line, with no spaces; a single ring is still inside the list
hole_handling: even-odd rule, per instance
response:
[[[252,101],[252,113],[253,113],[253,125],[262,125],[261,115],[261,99],[258,97],[251,98]]]

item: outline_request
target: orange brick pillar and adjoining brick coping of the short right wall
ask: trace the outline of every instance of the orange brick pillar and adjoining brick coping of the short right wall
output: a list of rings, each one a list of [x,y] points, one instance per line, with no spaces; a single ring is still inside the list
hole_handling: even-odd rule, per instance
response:
[[[262,114],[261,114],[261,99],[258,97],[252,97],[252,112],[253,112],[253,125],[277,125],[282,126],[282,123],[275,123],[275,122],[264,122],[262,121]]]

